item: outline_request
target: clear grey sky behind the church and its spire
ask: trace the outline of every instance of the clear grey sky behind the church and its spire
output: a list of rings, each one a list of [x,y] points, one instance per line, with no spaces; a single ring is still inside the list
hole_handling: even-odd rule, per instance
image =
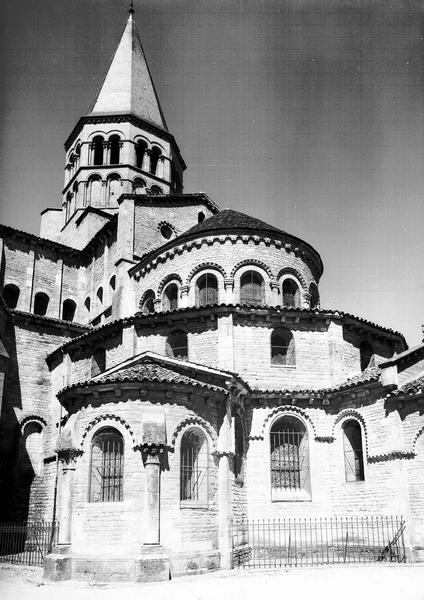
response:
[[[424,323],[424,3],[135,0],[185,191],[320,253],[321,307]],[[1,0],[0,222],[39,233],[126,0]]]

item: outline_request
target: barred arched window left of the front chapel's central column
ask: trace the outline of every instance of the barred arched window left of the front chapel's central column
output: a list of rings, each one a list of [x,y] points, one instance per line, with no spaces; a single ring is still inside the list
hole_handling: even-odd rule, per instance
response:
[[[97,431],[91,441],[90,502],[122,500],[124,440],[112,427]]]

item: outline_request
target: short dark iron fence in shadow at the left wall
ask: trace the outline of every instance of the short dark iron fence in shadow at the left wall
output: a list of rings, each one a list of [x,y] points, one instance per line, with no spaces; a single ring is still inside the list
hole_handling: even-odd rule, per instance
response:
[[[42,565],[58,531],[57,523],[45,521],[0,523],[0,563]]]

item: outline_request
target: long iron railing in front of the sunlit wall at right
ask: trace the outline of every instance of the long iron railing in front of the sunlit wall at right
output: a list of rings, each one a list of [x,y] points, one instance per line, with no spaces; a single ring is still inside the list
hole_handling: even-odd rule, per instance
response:
[[[233,526],[232,567],[404,562],[404,530],[395,516],[243,521]]]

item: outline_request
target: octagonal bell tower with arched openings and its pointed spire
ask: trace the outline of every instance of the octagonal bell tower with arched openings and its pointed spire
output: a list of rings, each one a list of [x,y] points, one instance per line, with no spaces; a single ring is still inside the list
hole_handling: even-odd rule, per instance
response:
[[[87,207],[115,212],[123,193],[182,192],[185,163],[168,131],[132,7],[94,107],[65,150],[62,231]]]

